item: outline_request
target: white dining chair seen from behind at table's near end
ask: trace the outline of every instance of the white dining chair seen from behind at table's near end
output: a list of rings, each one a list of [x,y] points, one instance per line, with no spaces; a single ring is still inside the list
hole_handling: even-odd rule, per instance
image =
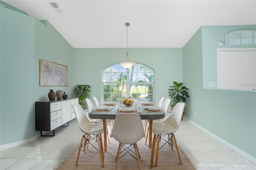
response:
[[[110,137],[114,137],[114,139],[119,142],[118,152],[116,155],[116,170],[118,169],[119,159],[122,157],[120,156],[120,153],[129,153],[133,156],[133,148],[135,149],[139,169],[141,169],[140,153],[138,150],[137,142],[141,140],[142,137],[144,137],[144,129],[140,116],[134,113],[117,114]],[[123,150],[121,151],[122,148]]]

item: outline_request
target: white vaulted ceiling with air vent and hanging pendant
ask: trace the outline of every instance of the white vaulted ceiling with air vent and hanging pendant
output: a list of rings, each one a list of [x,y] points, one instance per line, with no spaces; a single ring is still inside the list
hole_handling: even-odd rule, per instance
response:
[[[256,24],[256,0],[3,0],[74,48],[183,47],[200,26]],[[49,2],[56,2],[57,13]]]

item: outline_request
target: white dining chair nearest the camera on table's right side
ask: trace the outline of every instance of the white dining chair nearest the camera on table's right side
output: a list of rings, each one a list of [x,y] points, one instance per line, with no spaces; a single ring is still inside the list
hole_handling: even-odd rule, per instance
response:
[[[162,138],[161,141],[165,141],[164,144],[168,143],[169,145],[171,145],[172,150],[173,150],[173,146],[176,147],[180,164],[182,164],[182,160],[180,158],[180,152],[178,149],[178,144],[177,144],[174,132],[176,132],[180,128],[180,122],[183,115],[184,107],[185,107],[185,103],[183,102],[177,103],[174,106],[171,115],[167,119],[153,124],[152,132],[154,133],[154,138],[152,142],[152,152],[151,152],[151,159],[150,159],[151,169],[154,163],[155,146],[156,146],[156,167],[157,167],[159,148],[162,148],[162,147],[159,147],[161,138]],[[157,138],[157,144],[156,144],[156,138]]]

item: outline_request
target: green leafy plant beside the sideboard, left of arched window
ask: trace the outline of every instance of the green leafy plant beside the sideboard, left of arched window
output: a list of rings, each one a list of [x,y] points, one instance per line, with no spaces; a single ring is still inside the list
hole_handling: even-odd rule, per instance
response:
[[[83,109],[86,109],[85,99],[89,96],[90,92],[89,85],[76,85],[74,89],[76,97],[78,97],[78,103]]]

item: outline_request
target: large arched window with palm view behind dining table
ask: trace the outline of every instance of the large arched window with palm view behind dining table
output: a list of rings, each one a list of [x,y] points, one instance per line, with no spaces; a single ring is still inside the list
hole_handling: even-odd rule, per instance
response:
[[[102,71],[102,82],[104,102],[125,97],[153,102],[154,70],[146,65],[136,63],[130,69],[111,65]]]

